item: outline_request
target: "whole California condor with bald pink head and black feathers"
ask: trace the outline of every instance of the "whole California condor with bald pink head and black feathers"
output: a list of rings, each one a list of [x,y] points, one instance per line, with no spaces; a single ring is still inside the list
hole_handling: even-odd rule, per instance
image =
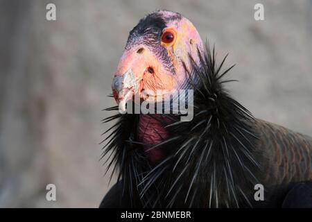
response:
[[[216,62],[214,47],[176,12],[153,12],[130,31],[112,84],[119,105],[106,110],[171,102],[160,89],[191,89],[193,118],[181,121],[185,113],[171,105],[170,113],[104,119],[116,121],[103,157],[118,182],[100,207],[312,207],[312,138],[256,119],[234,100],[225,58]]]

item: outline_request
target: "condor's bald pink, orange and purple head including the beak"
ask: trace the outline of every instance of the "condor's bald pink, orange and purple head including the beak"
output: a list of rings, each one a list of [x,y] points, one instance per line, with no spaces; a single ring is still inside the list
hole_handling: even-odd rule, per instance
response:
[[[166,31],[174,33],[173,42],[162,41]],[[189,54],[197,59],[197,49],[203,49],[202,40],[188,19],[169,11],[147,15],[130,31],[114,75],[116,102],[124,106],[134,95],[155,100],[164,96],[159,89],[180,89],[188,77],[182,62],[190,70]]]

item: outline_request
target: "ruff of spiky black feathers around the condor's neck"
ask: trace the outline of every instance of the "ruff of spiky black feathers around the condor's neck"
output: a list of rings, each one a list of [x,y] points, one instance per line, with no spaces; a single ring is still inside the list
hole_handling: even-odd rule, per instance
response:
[[[168,151],[153,165],[139,141],[138,114],[116,114],[118,119],[103,156],[112,151],[109,167],[119,168],[124,195],[133,207],[242,207],[251,206],[250,192],[261,175],[254,118],[223,89],[227,71],[216,66],[214,51],[198,51],[190,58],[189,84],[194,89],[194,118],[178,121],[166,115],[168,137],[151,147]],[[193,78],[197,76],[197,80]],[[116,110],[118,108],[115,108]],[[114,110],[114,108],[108,109]],[[160,117],[159,121],[162,121]],[[108,158],[110,159],[110,158]],[[107,159],[107,160],[108,160]],[[256,161],[257,160],[257,161]]]

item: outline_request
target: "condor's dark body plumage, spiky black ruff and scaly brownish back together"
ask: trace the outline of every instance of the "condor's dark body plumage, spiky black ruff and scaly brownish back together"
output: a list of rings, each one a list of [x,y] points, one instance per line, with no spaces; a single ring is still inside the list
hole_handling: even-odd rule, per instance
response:
[[[281,207],[297,182],[309,181],[312,138],[255,119],[224,88],[227,72],[214,49],[190,57],[189,84],[194,89],[194,118],[157,114],[169,136],[150,148],[166,157],[150,163],[139,141],[139,114],[116,114],[105,134],[103,156],[118,182],[101,207]],[[186,66],[184,66],[187,69]],[[194,78],[193,76],[197,76]],[[118,110],[118,106],[107,109]],[[265,200],[254,200],[254,185],[265,188]],[[309,189],[306,189],[309,190]],[[293,192],[294,193],[294,192]]]

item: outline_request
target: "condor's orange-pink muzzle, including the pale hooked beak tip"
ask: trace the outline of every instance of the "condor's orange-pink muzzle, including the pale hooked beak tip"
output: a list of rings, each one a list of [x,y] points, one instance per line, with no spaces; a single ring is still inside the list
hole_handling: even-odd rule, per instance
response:
[[[133,101],[140,103],[149,97],[145,91],[153,95],[158,88],[172,89],[173,83],[173,77],[166,74],[157,56],[147,47],[139,45],[123,52],[112,82],[112,91],[119,104],[119,112],[125,113],[127,101],[134,96]]]

